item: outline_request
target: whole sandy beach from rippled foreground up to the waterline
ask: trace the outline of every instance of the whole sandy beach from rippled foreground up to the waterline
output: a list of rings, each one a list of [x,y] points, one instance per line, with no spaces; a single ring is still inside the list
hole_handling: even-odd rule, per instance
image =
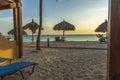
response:
[[[106,44],[84,41],[51,42],[51,48],[46,48],[46,45],[43,42],[41,51],[36,51],[35,43],[24,43],[24,56],[15,61],[38,63],[29,77],[31,67],[23,70],[27,80],[106,80]],[[19,72],[5,77],[5,80],[13,79],[21,80]]]

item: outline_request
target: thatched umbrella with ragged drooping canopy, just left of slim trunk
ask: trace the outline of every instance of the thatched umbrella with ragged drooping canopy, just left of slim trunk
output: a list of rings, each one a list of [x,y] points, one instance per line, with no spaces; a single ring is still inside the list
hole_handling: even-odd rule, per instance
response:
[[[30,29],[32,32],[32,42],[34,42],[34,33],[36,33],[36,30],[38,29],[39,24],[37,24],[36,22],[34,22],[34,20],[32,19],[32,22],[26,24],[23,29]]]

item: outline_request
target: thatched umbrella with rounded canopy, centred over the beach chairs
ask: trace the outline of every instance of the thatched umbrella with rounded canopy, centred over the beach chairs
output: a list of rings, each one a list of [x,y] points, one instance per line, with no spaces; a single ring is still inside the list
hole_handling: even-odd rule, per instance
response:
[[[63,40],[64,40],[65,31],[75,30],[75,26],[66,21],[62,21],[62,22],[56,24],[53,29],[54,30],[63,30]]]

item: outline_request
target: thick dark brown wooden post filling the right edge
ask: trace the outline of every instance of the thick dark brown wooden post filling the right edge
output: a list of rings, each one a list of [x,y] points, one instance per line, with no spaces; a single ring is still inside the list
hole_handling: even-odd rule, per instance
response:
[[[120,80],[120,0],[109,1],[107,80]]]

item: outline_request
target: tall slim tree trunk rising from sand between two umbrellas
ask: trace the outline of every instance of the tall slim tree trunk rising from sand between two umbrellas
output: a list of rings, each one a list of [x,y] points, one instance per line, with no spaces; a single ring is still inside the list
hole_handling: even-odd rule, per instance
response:
[[[40,26],[38,28],[38,36],[37,36],[37,42],[36,42],[36,49],[40,50],[40,36],[41,36],[41,29],[42,29],[42,0],[39,1],[40,2]]]

